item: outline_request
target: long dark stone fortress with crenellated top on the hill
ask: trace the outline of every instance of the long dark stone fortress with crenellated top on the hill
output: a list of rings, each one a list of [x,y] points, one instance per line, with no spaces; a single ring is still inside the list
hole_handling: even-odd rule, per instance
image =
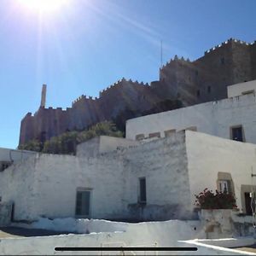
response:
[[[180,99],[184,106],[227,97],[227,86],[256,79],[256,41],[230,38],[195,61],[175,58],[160,68],[160,79],[150,84],[121,79],[96,98],[80,96],[72,108],[45,108],[27,113],[20,124],[20,144],[41,141],[65,131],[83,130],[115,118],[125,109],[143,113],[155,103]]]

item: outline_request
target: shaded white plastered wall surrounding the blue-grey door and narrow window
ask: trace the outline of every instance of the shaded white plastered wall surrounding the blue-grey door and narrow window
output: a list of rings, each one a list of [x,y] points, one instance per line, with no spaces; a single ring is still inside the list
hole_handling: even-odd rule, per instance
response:
[[[145,207],[137,204],[139,177],[146,177]],[[168,219],[181,210],[186,214],[184,133],[96,157],[37,154],[0,172],[0,194],[3,201],[15,201],[16,219],[74,217],[78,188],[92,190],[91,218]]]

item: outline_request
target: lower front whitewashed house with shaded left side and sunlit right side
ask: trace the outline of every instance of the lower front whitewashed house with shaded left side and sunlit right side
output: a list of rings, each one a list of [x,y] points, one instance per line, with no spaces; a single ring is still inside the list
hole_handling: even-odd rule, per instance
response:
[[[77,156],[32,155],[0,172],[0,195],[14,203],[13,218],[194,218],[195,194],[220,184],[249,211],[254,144],[181,131],[89,156],[101,141],[108,137],[82,144]]]

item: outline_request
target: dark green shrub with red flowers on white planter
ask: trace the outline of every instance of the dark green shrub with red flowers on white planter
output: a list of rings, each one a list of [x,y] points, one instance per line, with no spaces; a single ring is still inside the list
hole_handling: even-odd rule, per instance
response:
[[[236,198],[233,194],[226,191],[216,190],[216,194],[212,190],[204,189],[199,195],[195,195],[195,205],[201,209],[236,209]]]

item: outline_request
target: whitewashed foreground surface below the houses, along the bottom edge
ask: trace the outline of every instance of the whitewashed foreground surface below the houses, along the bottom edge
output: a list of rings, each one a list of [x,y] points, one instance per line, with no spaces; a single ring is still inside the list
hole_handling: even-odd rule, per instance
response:
[[[33,255],[101,255],[101,252],[55,252],[55,247],[198,247],[196,252],[160,252],[158,255],[245,255],[219,247],[218,240],[208,241],[200,221],[169,220],[127,224],[100,219],[63,218],[39,219],[31,228],[88,232],[83,235],[61,235],[30,238],[7,238],[0,242],[0,254]],[[196,240],[195,240],[196,239]],[[222,240],[220,245],[236,244],[236,239]],[[239,246],[252,244],[252,238],[240,241]],[[238,242],[237,242],[238,244]],[[109,252],[108,252],[109,253]],[[113,255],[113,252],[110,252]],[[119,255],[120,252],[115,253]],[[154,255],[155,252],[133,252],[133,255]],[[145,254],[144,254],[145,253]],[[106,252],[102,253],[106,255]],[[128,255],[127,253],[125,255]],[[132,255],[132,254],[130,254]],[[155,255],[157,255],[155,253]],[[256,254],[252,254],[256,255]]]

